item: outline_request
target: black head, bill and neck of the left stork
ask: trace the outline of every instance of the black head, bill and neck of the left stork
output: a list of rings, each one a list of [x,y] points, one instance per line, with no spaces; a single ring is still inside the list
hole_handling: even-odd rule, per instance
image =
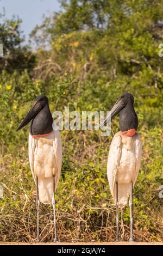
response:
[[[48,105],[48,98],[44,95],[36,97],[32,108],[20,124],[17,130],[22,129],[31,120],[30,133],[32,135],[44,134],[52,131],[53,118]]]

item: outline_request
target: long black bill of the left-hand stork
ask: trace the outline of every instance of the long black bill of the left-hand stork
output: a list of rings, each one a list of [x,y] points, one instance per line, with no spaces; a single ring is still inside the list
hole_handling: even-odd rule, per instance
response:
[[[32,108],[30,108],[29,113],[26,115],[24,120],[22,121],[21,125],[17,127],[17,130],[22,129],[24,126],[26,126],[32,119],[36,117],[36,115],[41,111],[42,107],[39,102],[35,102]]]

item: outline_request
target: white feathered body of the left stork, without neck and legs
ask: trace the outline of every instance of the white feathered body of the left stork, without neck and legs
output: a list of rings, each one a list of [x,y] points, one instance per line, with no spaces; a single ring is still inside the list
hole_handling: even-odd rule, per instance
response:
[[[33,137],[29,133],[29,163],[36,184],[39,186],[39,200],[43,204],[52,203],[53,175],[55,190],[61,172],[62,147],[59,131],[52,131],[44,137]]]

